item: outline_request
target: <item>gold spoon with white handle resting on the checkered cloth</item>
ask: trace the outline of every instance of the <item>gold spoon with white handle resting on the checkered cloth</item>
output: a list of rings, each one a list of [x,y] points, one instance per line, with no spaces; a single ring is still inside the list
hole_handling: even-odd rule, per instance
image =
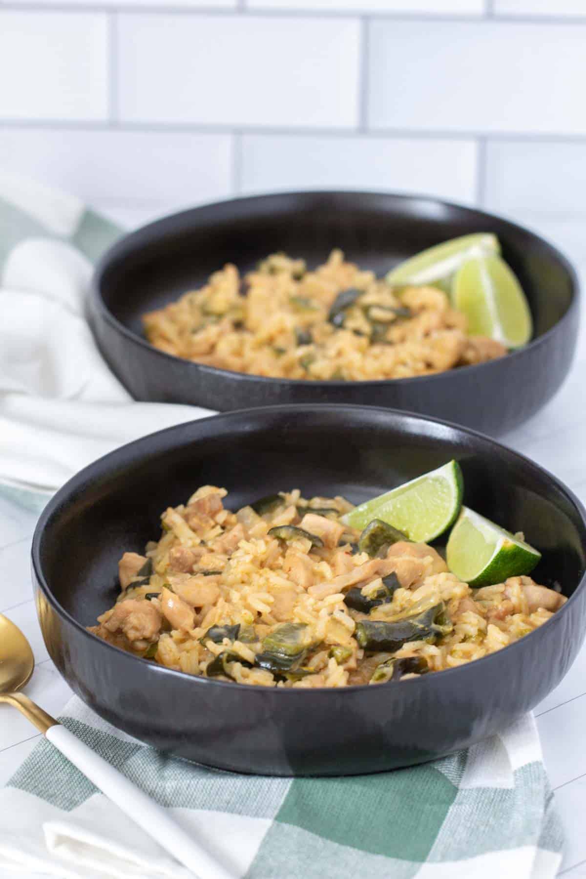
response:
[[[84,745],[54,717],[18,690],[31,679],[34,657],[20,629],[0,614],[0,702],[18,708],[90,781],[124,810],[153,839],[181,861],[199,879],[233,879],[196,839],[182,830],[169,811],[157,805],[126,775]]]

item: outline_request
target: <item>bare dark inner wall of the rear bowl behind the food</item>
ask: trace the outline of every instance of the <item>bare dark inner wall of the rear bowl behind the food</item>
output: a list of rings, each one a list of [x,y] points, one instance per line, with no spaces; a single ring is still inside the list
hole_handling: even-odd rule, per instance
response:
[[[341,248],[387,272],[433,244],[494,232],[532,309],[535,334],[550,330],[573,295],[572,272],[551,245],[490,214],[437,200],[376,193],[288,193],[221,202],[163,219],[123,239],[98,271],[98,293],[128,329],[141,315],[206,282],[226,263],[248,271],[275,251],[310,267]]]

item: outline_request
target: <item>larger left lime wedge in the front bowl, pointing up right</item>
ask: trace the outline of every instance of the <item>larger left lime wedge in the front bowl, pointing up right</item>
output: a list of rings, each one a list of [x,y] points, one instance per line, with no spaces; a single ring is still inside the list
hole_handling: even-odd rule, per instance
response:
[[[352,528],[365,528],[382,519],[416,542],[432,541],[443,534],[458,516],[464,481],[457,461],[417,476],[378,498],[347,512],[342,521]]]

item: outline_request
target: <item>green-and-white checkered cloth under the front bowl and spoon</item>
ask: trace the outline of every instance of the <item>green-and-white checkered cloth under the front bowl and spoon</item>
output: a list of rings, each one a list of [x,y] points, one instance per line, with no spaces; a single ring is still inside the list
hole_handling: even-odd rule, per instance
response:
[[[433,763],[324,779],[171,759],[76,698],[61,720],[235,877],[548,879],[560,867],[561,829],[531,716]],[[46,739],[0,790],[0,816],[0,877],[190,875]]]

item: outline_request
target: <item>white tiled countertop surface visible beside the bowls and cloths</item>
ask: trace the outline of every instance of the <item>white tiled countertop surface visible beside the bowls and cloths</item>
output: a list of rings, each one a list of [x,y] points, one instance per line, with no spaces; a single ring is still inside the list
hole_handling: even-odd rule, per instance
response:
[[[586,328],[582,327],[575,363],[565,385],[536,418],[503,440],[550,470],[586,502],[586,451],[580,441],[586,427],[583,376],[586,371]],[[503,389],[506,394],[506,389]],[[33,644],[36,669],[25,692],[42,708],[58,714],[71,691],[61,679],[40,635],[29,554],[36,515],[0,497],[0,612],[10,617]],[[16,711],[1,708],[0,785],[32,751],[40,735]],[[546,768],[565,826],[564,876],[586,877],[586,644],[568,675],[535,708]]]

